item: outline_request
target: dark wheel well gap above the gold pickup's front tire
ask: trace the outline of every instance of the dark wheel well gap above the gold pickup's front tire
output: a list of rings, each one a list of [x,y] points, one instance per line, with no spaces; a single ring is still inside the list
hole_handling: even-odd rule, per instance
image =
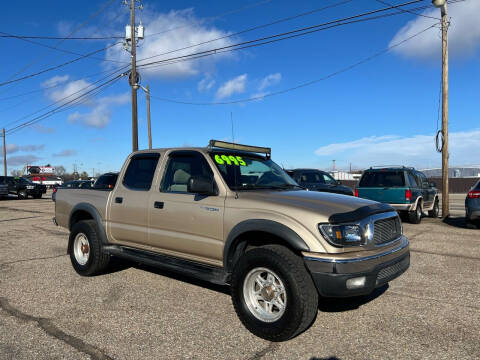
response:
[[[245,252],[264,245],[282,245],[290,249],[292,252],[298,254],[299,251],[294,249],[283,238],[265,231],[247,231],[240,234],[228,249],[227,256],[227,272],[231,272],[235,263],[240,259]]]

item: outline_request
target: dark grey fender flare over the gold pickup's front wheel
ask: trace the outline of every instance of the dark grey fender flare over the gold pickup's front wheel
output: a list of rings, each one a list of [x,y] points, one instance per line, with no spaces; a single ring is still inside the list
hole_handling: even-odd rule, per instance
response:
[[[308,245],[303,239],[288,226],[285,226],[279,222],[266,220],[266,219],[251,219],[238,223],[233,227],[225,242],[225,248],[223,251],[223,266],[227,272],[232,269],[233,262],[233,250],[237,243],[236,239],[249,231],[262,231],[278,236],[283,239],[293,249],[298,251],[310,251]]]

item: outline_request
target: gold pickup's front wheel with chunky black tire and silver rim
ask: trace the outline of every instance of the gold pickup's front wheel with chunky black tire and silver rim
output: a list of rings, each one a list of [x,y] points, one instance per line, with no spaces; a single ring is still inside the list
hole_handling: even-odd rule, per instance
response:
[[[231,288],[240,321],[265,340],[295,337],[318,311],[318,293],[302,259],[283,246],[247,251],[235,265]]]

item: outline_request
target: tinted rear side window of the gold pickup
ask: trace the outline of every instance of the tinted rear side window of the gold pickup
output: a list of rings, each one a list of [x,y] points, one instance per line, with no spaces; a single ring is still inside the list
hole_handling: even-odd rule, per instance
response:
[[[125,171],[123,185],[131,190],[150,190],[159,158],[160,154],[134,155]]]

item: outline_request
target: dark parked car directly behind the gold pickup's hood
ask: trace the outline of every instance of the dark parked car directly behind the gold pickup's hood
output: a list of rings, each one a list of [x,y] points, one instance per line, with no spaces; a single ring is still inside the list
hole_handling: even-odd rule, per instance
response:
[[[343,195],[353,195],[353,190],[342,185],[329,173],[317,169],[286,170],[287,174],[299,185],[311,191],[332,192]]]

